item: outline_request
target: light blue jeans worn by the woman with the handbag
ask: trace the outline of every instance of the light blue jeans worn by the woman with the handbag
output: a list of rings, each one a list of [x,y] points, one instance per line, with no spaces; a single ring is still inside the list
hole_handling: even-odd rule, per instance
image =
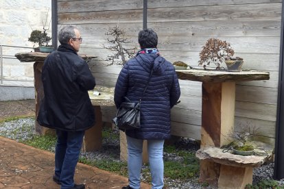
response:
[[[143,140],[126,136],[128,145],[128,179],[130,187],[140,188]],[[152,189],[164,186],[163,147],[165,140],[147,140],[148,157],[152,176]]]

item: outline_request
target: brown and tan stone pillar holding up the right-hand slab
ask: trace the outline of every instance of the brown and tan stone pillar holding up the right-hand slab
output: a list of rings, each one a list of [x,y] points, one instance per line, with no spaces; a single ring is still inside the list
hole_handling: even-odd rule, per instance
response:
[[[201,147],[222,147],[234,128],[235,82],[202,83]],[[200,181],[218,186],[221,164],[200,161]]]

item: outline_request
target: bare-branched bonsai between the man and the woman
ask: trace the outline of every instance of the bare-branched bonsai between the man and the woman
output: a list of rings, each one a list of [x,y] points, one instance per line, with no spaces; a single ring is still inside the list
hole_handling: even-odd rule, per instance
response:
[[[106,32],[107,36],[110,36],[106,40],[111,44],[109,47],[104,45],[104,48],[113,51],[113,55],[108,55],[106,61],[111,61],[108,65],[125,64],[130,58],[133,58],[135,55],[136,47],[127,49],[126,44],[131,43],[132,40],[126,38],[126,31],[119,28],[118,26],[108,28]]]

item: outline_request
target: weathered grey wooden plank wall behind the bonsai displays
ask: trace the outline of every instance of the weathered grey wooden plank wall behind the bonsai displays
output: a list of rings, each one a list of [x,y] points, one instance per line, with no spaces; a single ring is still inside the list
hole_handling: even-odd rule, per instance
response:
[[[199,52],[211,37],[230,42],[244,69],[270,71],[268,81],[237,83],[235,125],[259,127],[259,134],[274,138],[279,75],[281,0],[148,0],[147,27],[159,38],[158,49],[171,62],[198,66]],[[106,66],[110,53],[108,27],[119,25],[138,47],[143,27],[143,1],[58,1],[58,28],[77,25],[82,33],[81,53],[97,55],[90,62],[98,84],[115,86],[121,66]],[[172,110],[172,134],[200,139],[201,83],[180,80],[181,103]],[[104,108],[104,121],[115,112]]]

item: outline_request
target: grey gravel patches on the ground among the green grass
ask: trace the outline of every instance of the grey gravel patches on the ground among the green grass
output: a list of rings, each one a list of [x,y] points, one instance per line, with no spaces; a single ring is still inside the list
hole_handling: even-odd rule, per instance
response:
[[[0,123],[0,135],[5,136],[6,138],[11,138],[16,141],[28,140],[32,138],[35,134],[34,129],[34,119],[32,118],[21,118],[16,121],[10,121],[5,123]],[[118,131],[115,131],[115,133]],[[194,140],[188,138],[182,138],[178,142],[179,149],[196,152],[198,150],[198,144]],[[54,151],[54,148],[51,149]],[[89,160],[99,160],[99,159],[111,159],[115,161],[119,160],[119,140],[106,140],[103,141],[103,147],[99,151],[81,153],[83,157],[86,157]],[[165,160],[177,160],[180,157],[164,153]],[[265,164],[259,168],[255,168],[253,171],[253,184],[256,184],[258,181],[263,179],[273,179],[273,170],[274,164]],[[143,176],[141,180],[144,180]],[[281,186],[284,186],[284,180],[278,181]],[[193,179],[188,179],[187,181],[165,179],[165,184],[167,184],[169,189],[185,189],[185,188],[210,188],[201,186],[198,183],[198,177]]]

